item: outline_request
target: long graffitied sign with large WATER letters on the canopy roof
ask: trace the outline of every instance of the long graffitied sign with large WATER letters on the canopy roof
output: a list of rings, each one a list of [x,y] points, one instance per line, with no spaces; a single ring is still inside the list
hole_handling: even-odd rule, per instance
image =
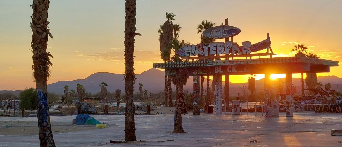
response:
[[[212,42],[203,43],[197,45],[185,45],[176,54],[182,56],[209,56],[220,54],[249,54],[251,52],[260,51],[271,47],[271,38],[251,44],[249,41],[242,42],[242,46],[239,46],[233,41],[226,42]]]

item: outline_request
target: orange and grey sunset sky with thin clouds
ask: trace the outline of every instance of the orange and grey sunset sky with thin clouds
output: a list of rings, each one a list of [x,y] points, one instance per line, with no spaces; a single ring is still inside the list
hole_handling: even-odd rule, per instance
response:
[[[96,72],[124,73],[124,0],[50,0],[48,21],[51,77],[48,84],[84,79]],[[35,87],[32,76],[31,0],[0,0],[0,89],[21,90]],[[183,27],[180,40],[200,43],[197,25],[203,20],[216,25],[229,19],[229,25],[241,29],[234,42],[257,43],[271,36],[274,57],[294,56],[291,49],[305,44],[308,51],[327,60],[341,60],[342,1],[205,1],[138,0],[134,56],[135,73],[160,63],[159,29],[165,12],[174,13]],[[330,73],[342,77],[342,67]],[[249,75],[231,76],[233,83],[247,82]],[[273,78],[285,75],[272,75]],[[293,77],[299,77],[293,74]],[[258,75],[257,79],[263,78]],[[223,79],[224,80],[224,79]]]

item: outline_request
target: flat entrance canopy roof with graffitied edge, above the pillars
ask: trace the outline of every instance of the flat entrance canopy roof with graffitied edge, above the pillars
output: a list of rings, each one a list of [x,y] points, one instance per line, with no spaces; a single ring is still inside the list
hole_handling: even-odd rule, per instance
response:
[[[216,57],[217,58],[217,57]],[[214,61],[153,63],[153,68],[165,69],[165,75],[243,75],[264,73],[330,72],[338,61],[307,57],[276,57]]]

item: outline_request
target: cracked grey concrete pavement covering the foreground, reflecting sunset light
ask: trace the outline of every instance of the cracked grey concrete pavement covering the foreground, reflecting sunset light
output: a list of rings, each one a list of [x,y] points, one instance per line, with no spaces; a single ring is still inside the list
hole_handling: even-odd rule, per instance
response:
[[[53,134],[56,146],[342,146],[342,136],[331,136],[330,130],[342,130],[342,114],[314,111],[294,112],[293,117],[264,118],[255,113],[242,116],[183,114],[187,133],[174,134],[173,115],[135,115],[137,140],[168,140],[110,144],[109,140],[124,141],[124,115],[91,115],[103,123],[119,126],[89,131]],[[53,116],[52,122],[72,122],[74,116]],[[6,117],[0,121],[37,121],[37,117]],[[1,127],[1,126],[0,126]],[[52,127],[53,130],[53,127]],[[257,139],[257,143],[250,140]],[[0,147],[39,146],[38,135],[1,135]]]

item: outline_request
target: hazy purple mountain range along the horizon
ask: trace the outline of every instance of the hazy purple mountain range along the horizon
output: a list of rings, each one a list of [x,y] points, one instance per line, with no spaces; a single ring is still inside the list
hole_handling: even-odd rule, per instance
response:
[[[136,80],[134,84],[134,91],[138,92],[139,91],[139,83],[142,83],[143,89],[147,89],[149,92],[159,92],[164,90],[165,86],[165,75],[164,71],[160,71],[158,69],[149,69],[145,72],[142,72],[140,74],[136,74]],[[233,78],[233,77],[231,77]],[[342,90],[342,78],[337,77],[337,76],[319,76],[317,77],[318,81],[321,83],[331,83],[332,87],[331,89],[336,89],[337,85],[336,82],[339,82],[339,91]],[[285,82],[285,78],[281,79],[282,81]],[[65,85],[69,86],[69,89],[76,89],[76,85],[82,84],[87,92],[91,92],[93,94],[98,93],[101,89],[101,82],[108,83],[108,86],[106,87],[108,91],[114,92],[116,89],[121,89],[124,91],[124,75],[123,74],[116,74],[116,73],[104,73],[104,72],[99,72],[99,73],[94,73],[88,76],[85,79],[76,79],[73,81],[59,81],[56,83],[52,83],[48,85],[48,91],[49,92],[55,92],[56,94],[63,94],[63,87]],[[292,78],[292,83],[294,86],[298,87],[301,89],[301,79],[300,78]],[[305,82],[304,82],[305,83]],[[211,82],[210,82],[211,84]],[[236,83],[230,83],[230,94],[231,96],[237,96],[238,93],[242,93],[241,87],[242,84],[236,84]],[[245,83],[246,86],[248,86],[248,83]],[[264,87],[264,79],[259,79],[256,81],[255,87],[257,89],[263,89]],[[324,87],[324,86],[323,86]],[[222,81],[222,88],[224,88],[224,81]],[[189,92],[192,92],[193,90],[193,78],[192,76],[189,77],[187,84],[184,86],[184,90],[188,90]],[[204,82],[204,89],[206,89],[206,78]],[[175,86],[172,85],[172,90],[175,90]],[[248,91],[248,89],[247,89]],[[4,92],[11,92],[17,95],[20,90],[16,91],[8,91],[8,90],[0,90],[0,94]]]

